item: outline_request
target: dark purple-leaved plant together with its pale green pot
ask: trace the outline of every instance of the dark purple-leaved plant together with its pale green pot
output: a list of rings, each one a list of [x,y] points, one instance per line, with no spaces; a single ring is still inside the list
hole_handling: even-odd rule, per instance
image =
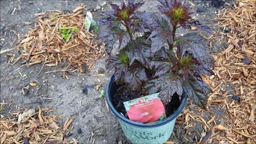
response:
[[[205,56],[203,39],[197,33],[175,34],[180,27],[194,26],[212,33],[211,29],[191,19],[187,5],[177,0],[158,1],[165,18],[135,12],[143,2],[130,0],[127,4],[122,1],[121,7],[110,4],[114,11],[106,12],[107,17],[99,22],[99,26],[107,26],[100,39],[109,55],[107,67],[114,69],[107,85],[107,103],[132,143],[164,143],[187,97],[205,109],[210,92],[201,77],[211,75],[213,67]],[[167,117],[150,124],[131,121],[123,102],[136,98],[134,95],[155,93],[164,103]]]

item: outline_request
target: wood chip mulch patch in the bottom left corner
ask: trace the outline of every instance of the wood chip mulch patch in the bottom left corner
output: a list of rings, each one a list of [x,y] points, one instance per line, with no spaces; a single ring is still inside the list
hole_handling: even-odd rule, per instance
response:
[[[7,103],[1,103],[3,108]],[[3,109],[2,109],[3,110]],[[36,112],[37,111],[37,112]],[[21,109],[1,115],[0,142],[5,143],[77,143],[76,139],[67,139],[73,126],[72,119],[67,118],[65,124],[59,124],[59,119],[65,116],[51,114],[51,110]]]

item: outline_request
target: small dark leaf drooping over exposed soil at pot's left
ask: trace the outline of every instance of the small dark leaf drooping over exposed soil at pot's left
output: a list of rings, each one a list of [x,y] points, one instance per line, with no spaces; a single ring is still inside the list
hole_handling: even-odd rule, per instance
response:
[[[136,65],[130,67],[127,70],[127,73],[125,74],[125,77],[124,77],[125,83],[129,83],[135,86],[137,90],[141,89],[143,82],[145,82],[146,80],[147,80],[147,75],[146,75],[145,69],[138,67]]]

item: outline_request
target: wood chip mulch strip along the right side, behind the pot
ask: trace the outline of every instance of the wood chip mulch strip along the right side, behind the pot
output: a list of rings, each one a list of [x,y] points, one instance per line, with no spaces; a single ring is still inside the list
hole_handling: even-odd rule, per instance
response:
[[[177,118],[176,123],[187,130],[183,136],[187,142],[256,143],[255,7],[254,0],[237,0],[219,10],[213,20],[218,21],[221,37],[210,37],[220,43],[226,39],[229,45],[213,55],[215,75],[203,77],[213,91],[207,111],[188,101],[188,108]]]

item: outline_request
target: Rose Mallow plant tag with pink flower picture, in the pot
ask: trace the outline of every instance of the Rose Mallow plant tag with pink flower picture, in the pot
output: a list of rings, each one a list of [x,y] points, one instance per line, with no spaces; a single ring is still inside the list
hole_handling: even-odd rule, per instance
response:
[[[166,118],[163,102],[159,93],[147,95],[124,102],[125,109],[131,121],[151,123]]]

